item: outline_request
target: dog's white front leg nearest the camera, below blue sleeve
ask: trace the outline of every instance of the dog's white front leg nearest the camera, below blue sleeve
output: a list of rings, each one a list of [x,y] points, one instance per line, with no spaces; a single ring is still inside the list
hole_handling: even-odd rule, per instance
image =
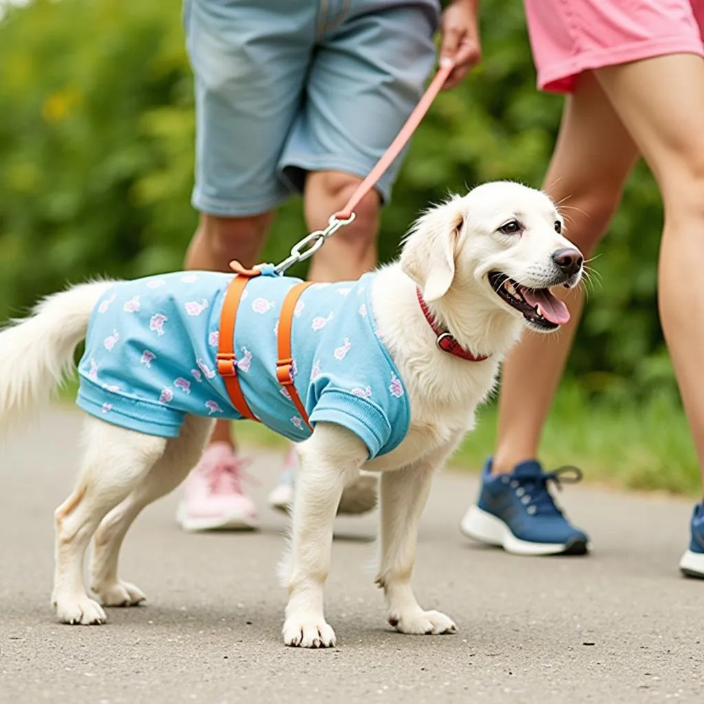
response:
[[[332,528],[345,484],[367,459],[367,448],[346,429],[319,423],[298,446],[291,555],[284,567],[289,589],[283,636],[287,646],[334,646],[325,622],[323,592],[330,567]]]

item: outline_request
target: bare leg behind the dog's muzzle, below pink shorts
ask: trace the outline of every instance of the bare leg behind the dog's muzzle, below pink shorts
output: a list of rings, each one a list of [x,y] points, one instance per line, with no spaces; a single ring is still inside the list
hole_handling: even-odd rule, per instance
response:
[[[565,213],[567,238],[589,258],[621,196],[637,150],[593,75],[582,75],[565,103],[560,134],[544,190]],[[527,332],[503,365],[498,404],[498,442],[493,471],[509,472],[535,458],[557,388],[584,291],[565,296],[572,319],[559,332]]]

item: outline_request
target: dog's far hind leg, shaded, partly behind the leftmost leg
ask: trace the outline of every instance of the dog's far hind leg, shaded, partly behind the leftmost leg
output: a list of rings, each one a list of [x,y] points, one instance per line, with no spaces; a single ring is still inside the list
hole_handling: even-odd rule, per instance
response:
[[[213,421],[188,415],[178,437],[166,449],[146,477],[125,501],[115,506],[101,521],[94,539],[92,590],[103,606],[134,606],[144,601],[144,593],[118,577],[118,559],[127,530],[140,511],[173,491],[199,460],[213,429]]]

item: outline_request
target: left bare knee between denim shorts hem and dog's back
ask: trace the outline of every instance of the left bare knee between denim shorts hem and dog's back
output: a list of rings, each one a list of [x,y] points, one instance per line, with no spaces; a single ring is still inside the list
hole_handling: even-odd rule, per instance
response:
[[[199,227],[201,246],[208,249],[209,258],[221,262],[225,270],[233,259],[251,266],[263,244],[272,218],[272,213],[250,215],[246,218],[221,218],[203,214]]]

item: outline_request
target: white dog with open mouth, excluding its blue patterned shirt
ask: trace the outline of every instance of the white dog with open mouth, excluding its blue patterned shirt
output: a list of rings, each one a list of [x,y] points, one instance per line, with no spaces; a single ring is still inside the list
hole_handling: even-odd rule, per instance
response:
[[[456,630],[448,616],[423,610],[410,586],[420,514],[432,475],[472,429],[474,411],[522,329],[547,332],[569,320],[548,289],[576,286],[583,259],[561,231],[560,213],[545,194],[510,182],[484,184],[428,210],[408,234],[400,260],[375,274],[370,301],[410,403],[408,432],[372,460],[360,437],[334,422],[314,423],[298,444],[301,470],[282,570],[289,591],[284,643],[335,644],[323,615],[333,521],[344,486],[362,469],[382,472],[376,581],[389,623],[408,634]],[[0,333],[0,427],[48,398],[70,371],[75,346],[90,335],[92,312],[111,285],[82,284],[50,296],[32,317]],[[316,295],[330,294],[320,288]],[[444,349],[448,340],[459,356]],[[106,618],[84,584],[92,538],[91,587],[99,601],[113,606],[144,599],[118,577],[120,546],[139,511],[175,489],[198,460],[212,424],[203,415],[187,415],[180,433],[168,439],[113,425],[110,414],[87,417],[77,488],[56,510],[52,601],[61,621]]]

